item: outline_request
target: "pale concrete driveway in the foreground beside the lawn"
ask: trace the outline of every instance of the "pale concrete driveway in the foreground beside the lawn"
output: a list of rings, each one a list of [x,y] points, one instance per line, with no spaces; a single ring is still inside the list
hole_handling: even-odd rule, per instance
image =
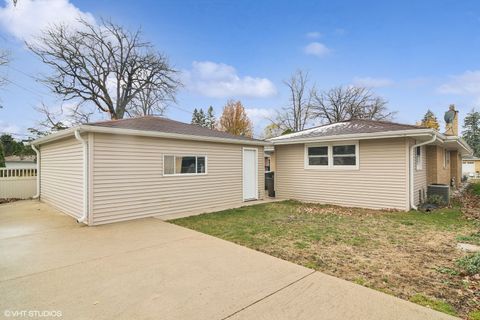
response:
[[[0,297],[8,319],[455,319],[159,219],[84,227],[37,201],[0,206]]]

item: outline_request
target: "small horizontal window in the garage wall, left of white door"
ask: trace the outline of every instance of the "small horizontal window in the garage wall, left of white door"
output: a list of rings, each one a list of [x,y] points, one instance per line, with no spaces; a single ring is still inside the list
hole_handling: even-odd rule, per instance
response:
[[[163,157],[164,175],[196,175],[207,173],[206,156],[173,156]]]

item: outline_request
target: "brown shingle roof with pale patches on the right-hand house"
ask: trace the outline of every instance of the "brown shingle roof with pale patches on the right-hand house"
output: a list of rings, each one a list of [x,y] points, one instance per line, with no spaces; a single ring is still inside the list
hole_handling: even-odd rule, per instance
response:
[[[286,134],[271,139],[272,141],[289,141],[304,138],[329,137],[345,134],[376,133],[400,130],[428,129],[410,124],[401,124],[377,120],[350,120],[326,124],[315,128]]]

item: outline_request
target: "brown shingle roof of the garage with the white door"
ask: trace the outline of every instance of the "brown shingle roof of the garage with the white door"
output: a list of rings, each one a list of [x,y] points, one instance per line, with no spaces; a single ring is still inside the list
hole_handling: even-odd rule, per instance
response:
[[[261,140],[257,140],[257,139],[252,139],[252,138],[243,137],[243,136],[236,136],[227,132],[211,130],[211,129],[203,128],[193,124],[187,124],[187,123],[183,123],[183,122],[179,122],[179,121],[175,121],[167,118],[154,117],[154,116],[101,121],[101,122],[89,123],[88,125],[97,126],[97,127],[107,127],[107,128],[157,131],[157,132],[184,134],[184,135],[191,135],[191,136],[193,135],[193,136],[201,136],[201,137],[261,142]]]

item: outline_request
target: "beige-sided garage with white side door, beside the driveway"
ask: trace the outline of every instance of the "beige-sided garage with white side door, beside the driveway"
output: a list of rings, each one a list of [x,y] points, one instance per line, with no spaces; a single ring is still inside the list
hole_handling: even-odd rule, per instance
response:
[[[37,196],[88,225],[232,208],[263,199],[267,144],[159,117],[81,125],[32,142]]]

